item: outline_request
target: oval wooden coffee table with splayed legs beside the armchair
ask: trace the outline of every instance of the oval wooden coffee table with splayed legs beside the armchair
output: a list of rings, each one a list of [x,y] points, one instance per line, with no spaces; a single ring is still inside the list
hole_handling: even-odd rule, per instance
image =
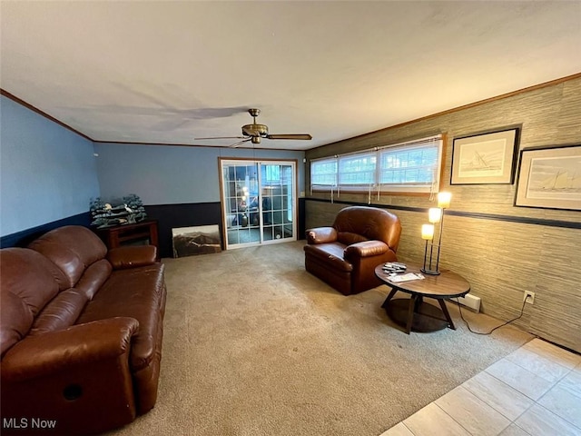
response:
[[[446,307],[446,300],[463,297],[470,291],[470,284],[455,272],[444,270],[439,275],[428,275],[420,272],[419,266],[407,266],[406,273],[420,273],[425,279],[391,282],[389,273],[383,272],[383,263],[375,268],[375,275],[391,288],[388,298],[381,304],[389,318],[404,327],[408,334],[409,332],[435,332],[446,327],[456,330]],[[411,296],[392,300],[398,291],[407,292]],[[435,299],[439,307],[424,302],[424,298]]]

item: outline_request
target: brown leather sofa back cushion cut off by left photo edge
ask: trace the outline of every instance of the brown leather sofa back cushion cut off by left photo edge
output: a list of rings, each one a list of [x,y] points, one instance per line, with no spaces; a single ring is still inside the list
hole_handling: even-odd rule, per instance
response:
[[[0,350],[2,355],[30,330],[34,317],[58,292],[54,264],[26,248],[0,251]]]

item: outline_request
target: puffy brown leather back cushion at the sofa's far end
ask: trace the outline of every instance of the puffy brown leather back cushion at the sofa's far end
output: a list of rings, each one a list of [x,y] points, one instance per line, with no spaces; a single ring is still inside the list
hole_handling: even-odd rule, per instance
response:
[[[28,248],[44,254],[61,269],[67,279],[61,289],[73,288],[84,270],[107,253],[107,247],[96,234],[78,225],[66,225],[44,233]]]

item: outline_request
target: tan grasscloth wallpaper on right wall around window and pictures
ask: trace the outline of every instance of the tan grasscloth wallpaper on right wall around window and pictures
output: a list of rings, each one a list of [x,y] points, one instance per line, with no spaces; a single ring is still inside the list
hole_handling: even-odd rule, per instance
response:
[[[441,265],[465,276],[471,292],[482,299],[482,311],[501,320],[517,316],[524,291],[536,292],[535,304],[526,305],[525,314],[516,324],[581,352],[581,212],[515,207],[516,183],[449,184],[455,136],[521,124],[520,149],[581,144],[579,120],[581,77],[577,76],[330,144],[306,156],[309,161],[430,134],[447,134],[441,190],[452,193],[452,203],[444,223]],[[309,186],[309,164],[306,175]],[[341,193],[339,198],[335,194],[333,204],[324,201],[330,199],[328,193],[314,193],[309,198],[307,228],[329,225],[334,214],[347,205],[340,202],[368,203],[367,193]],[[399,195],[382,195],[379,200],[374,196],[372,203],[394,207],[403,224],[399,259],[421,263],[424,244],[420,227],[427,222],[425,208],[435,204],[427,197]]]

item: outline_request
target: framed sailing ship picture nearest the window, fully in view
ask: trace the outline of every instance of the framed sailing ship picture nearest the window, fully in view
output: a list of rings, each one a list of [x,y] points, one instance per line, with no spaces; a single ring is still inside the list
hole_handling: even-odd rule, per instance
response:
[[[450,184],[513,183],[519,128],[454,138]]]

